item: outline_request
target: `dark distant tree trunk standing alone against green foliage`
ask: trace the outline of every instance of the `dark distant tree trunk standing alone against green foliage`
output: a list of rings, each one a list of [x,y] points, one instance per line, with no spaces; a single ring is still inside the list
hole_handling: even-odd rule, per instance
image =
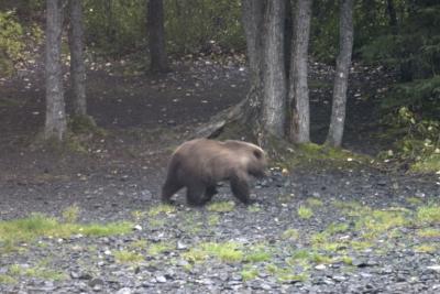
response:
[[[168,70],[165,50],[163,0],[147,0],[147,30],[150,45],[150,69],[155,73]]]

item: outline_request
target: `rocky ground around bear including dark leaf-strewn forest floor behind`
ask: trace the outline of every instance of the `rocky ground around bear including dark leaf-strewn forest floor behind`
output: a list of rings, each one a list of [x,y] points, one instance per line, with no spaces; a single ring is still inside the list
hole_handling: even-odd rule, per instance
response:
[[[129,221],[129,231],[0,241],[0,293],[440,291],[439,175],[346,154],[288,173],[274,164],[254,183],[257,203],[250,207],[235,203],[227,185],[207,207],[185,206],[182,193],[177,206],[160,205],[170,150],[248,87],[240,67],[179,66],[163,77],[90,72],[90,111],[107,134],[82,138],[87,150],[79,153],[29,144],[44,109],[37,75],[1,81],[8,99],[0,100],[0,219],[37,211],[63,225],[70,211],[79,224]],[[384,142],[371,123],[387,77],[362,67],[352,74],[345,148],[375,154]],[[326,133],[331,76],[312,65],[317,142]]]

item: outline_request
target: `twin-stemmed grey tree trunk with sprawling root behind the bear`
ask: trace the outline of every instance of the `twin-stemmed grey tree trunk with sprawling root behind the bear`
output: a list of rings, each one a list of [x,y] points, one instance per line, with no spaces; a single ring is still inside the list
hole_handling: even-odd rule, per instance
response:
[[[196,132],[215,137],[229,123],[249,126],[257,143],[283,138],[286,79],[284,59],[285,1],[242,0],[251,89],[246,99],[213,117]]]

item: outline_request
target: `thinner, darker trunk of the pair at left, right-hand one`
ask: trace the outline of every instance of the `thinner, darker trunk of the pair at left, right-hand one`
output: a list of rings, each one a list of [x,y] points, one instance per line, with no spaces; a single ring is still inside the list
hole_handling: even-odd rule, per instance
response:
[[[70,8],[70,80],[74,113],[87,116],[86,67],[84,65],[82,7],[81,0],[69,0]]]

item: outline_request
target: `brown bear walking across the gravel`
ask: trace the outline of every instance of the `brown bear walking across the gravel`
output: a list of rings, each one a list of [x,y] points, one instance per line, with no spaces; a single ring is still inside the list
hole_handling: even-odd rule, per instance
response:
[[[185,142],[170,157],[162,202],[170,203],[170,197],[186,187],[187,203],[204,205],[217,194],[218,182],[229,181],[233,195],[251,204],[249,175],[262,177],[266,166],[265,152],[252,143],[209,139]]]

